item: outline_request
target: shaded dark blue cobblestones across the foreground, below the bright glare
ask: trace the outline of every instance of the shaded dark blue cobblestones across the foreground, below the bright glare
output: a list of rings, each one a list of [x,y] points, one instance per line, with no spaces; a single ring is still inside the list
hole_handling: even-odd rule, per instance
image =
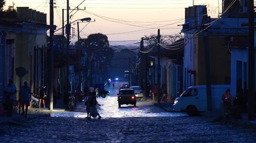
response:
[[[86,120],[43,117],[27,127],[3,125],[1,142],[255,142],[255,130],[202,117],[126,117]]]

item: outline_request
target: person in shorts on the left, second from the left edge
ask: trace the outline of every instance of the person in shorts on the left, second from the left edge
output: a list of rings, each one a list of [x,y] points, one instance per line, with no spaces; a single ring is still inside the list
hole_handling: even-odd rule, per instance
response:
[[[22,108],[21,116],[25,114],[25,117],[27,117],[28,106],[30,105],[30,100],[31,100],[31,91],[30,91],[30,87],[28,87],[28,81],[24,81],[23,84],[24,85],[20,88],[20,100],[21,100],[21,108]],[[24,110],[25,106],[26,106],[26,112]]]

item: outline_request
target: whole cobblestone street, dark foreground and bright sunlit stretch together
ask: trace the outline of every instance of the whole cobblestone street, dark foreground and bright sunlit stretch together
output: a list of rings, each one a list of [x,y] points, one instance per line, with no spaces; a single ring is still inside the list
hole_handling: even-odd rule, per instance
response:
[[[117,82],[110,96],[98,98],[101,120],[84,119],[84,102],[75,112],[52,114],[25,122],[26,127],[1,125],[0,142],[255,142],[253,129],[212,123],[203,116],[165,112],[150,102],[118,108]],[[11,128],[10,128],[11,127]]]

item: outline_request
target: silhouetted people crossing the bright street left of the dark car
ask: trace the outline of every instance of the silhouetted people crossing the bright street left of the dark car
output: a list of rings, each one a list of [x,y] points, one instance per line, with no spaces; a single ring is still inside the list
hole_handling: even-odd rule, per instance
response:
[[[86,92],[87,91],[87,92]],[[91,119],[91,117],[97,117],[98,119],[101,119],[101,116],[97,110],[97,105],[100,106],[100,104],[97,102],[96,92],[93,87],[85,88],[85,106],[86,106],[86,112],[87,117],[86,119]]]

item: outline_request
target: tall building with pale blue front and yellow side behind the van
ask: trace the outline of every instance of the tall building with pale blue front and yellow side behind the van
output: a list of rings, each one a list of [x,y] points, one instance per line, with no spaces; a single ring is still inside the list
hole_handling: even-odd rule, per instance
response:
[[[246,3],[237,1],[231,5],[223,1],[221,18],[210,18],[205,5],[185,9],[185,47],[183,58],[183,89],[205,85],[205,45],[209,47],[211,84],[230,84],[230,39],[246,39],[247,29],[241,24],[247,21]],[[208,39],[207,42],[205,37]]]

